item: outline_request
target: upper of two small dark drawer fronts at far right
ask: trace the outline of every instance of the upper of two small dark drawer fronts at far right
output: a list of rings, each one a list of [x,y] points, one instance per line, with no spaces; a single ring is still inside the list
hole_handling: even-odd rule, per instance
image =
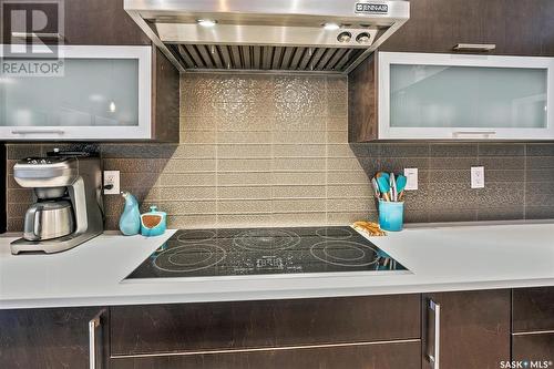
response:
[[[513,331],[554,330],[554,287],[513,291]]]

